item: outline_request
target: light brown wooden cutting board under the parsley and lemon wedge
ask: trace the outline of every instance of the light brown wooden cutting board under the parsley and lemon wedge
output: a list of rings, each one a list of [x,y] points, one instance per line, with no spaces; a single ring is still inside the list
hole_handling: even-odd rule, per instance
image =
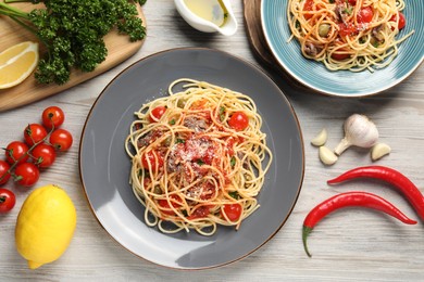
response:
[[[30,11],[37,5],[30,3],[15,3],[13,7],[22,9],[23,11]],[[142,11],[139,5],[137,7],[139,16],[146,25],[146,18]],[[0,52],[23,41],[38,41],[37,37],[32,33],[21,27],[9,17],[2,15],[0,15]],[[37,84],[34,75],[30,75],[22,84],[15,87],[0,89],[0,112],[23,106],[60,93],[65,89],[98,76],[135,54],[142,46],[144,40],[130,42],[127,36],[119,35],[115,30],[112,30],[104,37],[104,42],[108,48],[108,56],[105,61],[91,73],[73,72],[70,81],[62,86]],[[42,47],[41,44],[39,46]]]

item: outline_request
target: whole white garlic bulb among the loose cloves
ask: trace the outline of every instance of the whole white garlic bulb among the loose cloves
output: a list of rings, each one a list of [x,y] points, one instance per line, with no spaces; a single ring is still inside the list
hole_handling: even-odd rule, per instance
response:
[[[340,155],[351,145],[372,148],[378,141],[378,130],[373,121],[364,115],[353,114],[344,124],[345,138],[334,152]]]

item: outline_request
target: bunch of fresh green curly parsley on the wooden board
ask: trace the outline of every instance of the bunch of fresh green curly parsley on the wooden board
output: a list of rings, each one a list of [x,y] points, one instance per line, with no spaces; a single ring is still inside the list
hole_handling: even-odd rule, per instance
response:
[[[42,2],[45,8],[29,13],[7,4]],[[144,4],[146,0],[135,1]],[[130,41],[146,37],[136,3],[128,0],[7,0],[0,14],[8,15],[39,38],[47,54],[35,77],[40,84],[63,85],[72,68],[92,72],[108,55],[103,37],[113,28],[128,35]]]

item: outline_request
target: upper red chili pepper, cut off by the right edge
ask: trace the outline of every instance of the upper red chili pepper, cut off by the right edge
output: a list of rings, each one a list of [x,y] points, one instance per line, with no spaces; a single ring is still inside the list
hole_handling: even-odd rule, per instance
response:
[[[420,218],[424,220],[424,195],[411,180],[392,168],[385,166],[358,167],[328,180],[327,183],[337,184],[357,178],[374,178],[395,185],[408,198]]]

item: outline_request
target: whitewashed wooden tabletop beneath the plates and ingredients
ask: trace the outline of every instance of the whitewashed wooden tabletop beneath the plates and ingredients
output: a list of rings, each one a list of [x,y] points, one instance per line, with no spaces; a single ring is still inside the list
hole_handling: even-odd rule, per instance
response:
[[[83,85],[20,108],[0,113],[0,146],[21,139],[23,128],[39,121],[40,112],[59,105],[66,113],[66,127],[74,146],[43,171],[38,185],[57,183],[74,201],[78,214],[75,236],[66,253],[55,262],[28,270],[14,246],[14,226],[20,207],[29,191],[16,193],[15,208],[0,215],[0,281],[423,281],[424,225],[407,226],[361,208],[345,209],[325,218],[309,238],[313,254],[302,246],[301,226],[317,203],[341,191],[363,190],[379,194],[417,219],[408,202],[381,182],[356,181],[329,188],[326,180],[356,166],[372,164],[367,151],[349,149],[338,163],[325,167],[310,140],[327,128],[327,144],[342,137],[342,121],[362,113],[377,125],[381,140],[390,155],[375,164],[394,167],[410,177],[424,192],[424,68],[420,67],[401,85],[375,97],[340,99],[300,91],[278,76],[274,79],[294,105],[304,138],[305,175],[297,205],[280,231],[263,247],[241,261],[202,270],[176,271],[140,259],[111,239],[88,207],[78,172],[78,143],[86,116],[107,84],[129,64],[158,51],[176,47],[209,47],[227,51],[259,65],[246,36],[241,1],[232,1],[240,24],[236,35],[201,34],[177,14],[171,0],[149,0],[144,8],[148,37],[140,51],[128,61]],[[28,93],[30,94],[30,93]],[[0,98],[1,99],[1,98]],[[278,113],[275,113],[278,114]],[[260,227],[258,227],[260,228]]]

